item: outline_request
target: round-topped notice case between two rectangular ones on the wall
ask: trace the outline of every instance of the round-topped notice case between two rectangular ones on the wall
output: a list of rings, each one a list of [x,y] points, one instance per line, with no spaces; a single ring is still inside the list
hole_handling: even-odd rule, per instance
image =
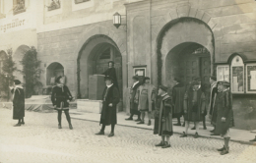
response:
[[[230,69],[231,92],[244,93],[244,64],[240,56],[233,57]]]

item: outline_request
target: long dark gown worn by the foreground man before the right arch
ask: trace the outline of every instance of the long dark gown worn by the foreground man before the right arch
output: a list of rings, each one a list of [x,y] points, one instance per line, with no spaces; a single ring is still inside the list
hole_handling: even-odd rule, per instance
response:
[[[159,136],[172,135],[172,104],[170,96],[166,94],[160,103]]]

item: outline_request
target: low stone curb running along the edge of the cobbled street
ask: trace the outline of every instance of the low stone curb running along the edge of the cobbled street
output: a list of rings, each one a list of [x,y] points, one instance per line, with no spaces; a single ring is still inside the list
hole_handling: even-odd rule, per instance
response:
[[[73,118],[71,117],[72,119],[76,119],[76,120],[82,120],[82,121],[90,121],[90,122],[97,122],[96,120],[88,120],[88,119],[81,119],[81,118]],[[129,125],[122,125],[122,124],[116,124],[117,126],[122,126],[122,127],[129,127],[129,128],[136,128],[136,129],[143,129],[143,130],[148,130],[148,131],[153,131],[152,129],[148,129],[148,128],[143,128],[143,127],[135,127],[135,126],[129,126]],[[182,135],[182,133],[179,133],[179,132],[173,132],[174,134],[178,134],[178,135]],[[191,134],[187,134],[188,136],[193,136]],[[223,137],[217,137],[217,136],[205,136],[205,135],[199,135],[199,137],[204,137],[204,138],[213,138],[213,139],[223,139]],[[251,141],[244,141],[244,140],[239,140],[239,139],[231,139],[230,138],[230,141],[233,141],[233,142],[238,142],[238,143],[241,143],[241,144],[247,144],[247,145],[254,145],[256,146],[256,142],[251,142]]]

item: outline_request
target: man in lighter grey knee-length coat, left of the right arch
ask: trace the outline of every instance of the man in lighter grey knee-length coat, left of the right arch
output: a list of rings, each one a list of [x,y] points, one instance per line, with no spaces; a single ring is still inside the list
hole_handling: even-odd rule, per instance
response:
[[[152,106],[154,105],[156,99],[156,88],[153,84],[150,83],[150,78],[145,77],[143,84],[140,85],[136,99],[139,100],[138,110],[142,114],[141,122],[137,124],[144,124],[145,114],[148,113],[148,126],[151,125],[151,113],[152,113]]]

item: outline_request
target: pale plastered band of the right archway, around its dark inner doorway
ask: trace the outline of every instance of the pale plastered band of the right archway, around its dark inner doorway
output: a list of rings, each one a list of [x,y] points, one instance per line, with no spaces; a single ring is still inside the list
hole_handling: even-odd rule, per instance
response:
[[[201,45],[208,49],[211,55],[211,74],[214,74],[215,40],[212,29],[201,20],[183,17],[170,21],[160,30],[157,39],[159,84],[165,84],[167,81],[166,62],[164,62],[166,56],[171,50],[175,51],[175,47],[178,47],[180,52],[187,49],[185,47],[191,45],[189,42],[193,42],[195,47]]]

